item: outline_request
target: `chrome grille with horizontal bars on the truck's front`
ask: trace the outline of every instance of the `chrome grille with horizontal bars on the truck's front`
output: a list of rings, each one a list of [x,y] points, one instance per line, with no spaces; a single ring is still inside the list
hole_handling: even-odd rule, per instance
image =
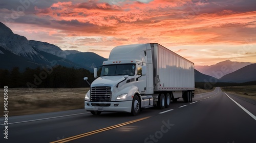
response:
[[[92,87],[91,101],[111,101],[111,87]]]

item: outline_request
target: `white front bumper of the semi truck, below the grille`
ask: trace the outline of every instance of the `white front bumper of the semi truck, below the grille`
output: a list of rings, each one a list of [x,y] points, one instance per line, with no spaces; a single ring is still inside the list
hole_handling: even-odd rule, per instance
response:
[[[118,101],[118,102],[84,101],[84,109],[86,109],[87,111],[131,112],[132,101]]]

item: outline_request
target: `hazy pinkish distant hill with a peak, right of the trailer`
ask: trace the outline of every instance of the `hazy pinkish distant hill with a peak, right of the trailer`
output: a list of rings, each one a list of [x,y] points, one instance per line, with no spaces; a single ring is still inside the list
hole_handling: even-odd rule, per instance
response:
[[[226,60],[211,66],[195,66],[195,69],[197,69],[199,72],[203,74],[210,75],[212,77],[219,79],[224,75],[232,73],[250,64],[252,63],[232,62],[230,60]]]

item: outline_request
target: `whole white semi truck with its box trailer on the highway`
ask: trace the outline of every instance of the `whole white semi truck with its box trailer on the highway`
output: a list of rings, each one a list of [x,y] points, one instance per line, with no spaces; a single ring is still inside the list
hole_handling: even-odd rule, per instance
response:
[[[158,43],[122,45],[103,62],[100,77],[84,98],[84,108],[93,115],[114,111],[136,116],[143,108],[169,107],[171,100],[191,102],[194,91],[194,63]]]

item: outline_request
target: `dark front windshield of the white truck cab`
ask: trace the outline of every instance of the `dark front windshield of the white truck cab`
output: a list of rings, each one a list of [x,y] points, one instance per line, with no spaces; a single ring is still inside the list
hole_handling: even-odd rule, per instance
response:
[[[116,64],[102,66],[100,76],[129,75],[135,74],[135,64]]]

